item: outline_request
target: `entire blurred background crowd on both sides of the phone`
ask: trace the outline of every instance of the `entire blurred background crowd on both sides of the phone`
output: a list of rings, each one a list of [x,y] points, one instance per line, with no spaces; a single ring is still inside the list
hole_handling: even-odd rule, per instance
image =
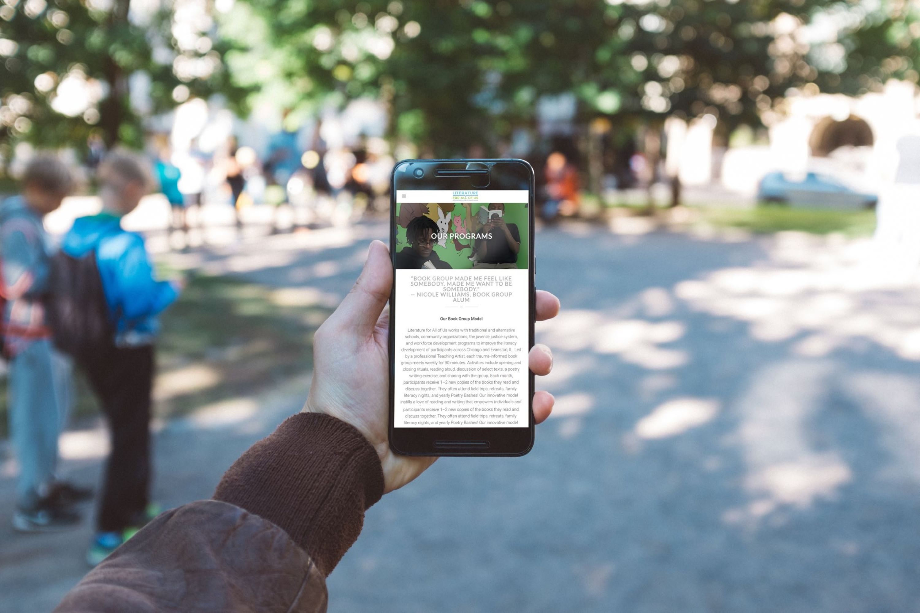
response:
[[[236,135],[207,147],[199,137],[177,146],[166,132],[150,135],[147,156],[156,189],[171,207],[173,230],[188,232],[196,222],[200,225],[201,208],[207,204],[232,207],[239,229],[247,207],[268,205],[276,210],[276,231],[285,209],[290,228],[340,225],[356,221],[366,211],[385,212],[396,163],[389,144],[362,136],[353,146],[330,147],[321,136],[321,126],[307,137],[304,131],[282,129],[258,148],[242,144]],[[98,141],[87,146],[86,165],[94,167],[105,150]],[[484,155],[481,147],[468,152],[469,157]],[[577,216],[582,168],[574,143],[566,139],[543,143],[524,157],[535,169],[537,214],[546,221]],[[638,185],[643,175],[640,157],[637,153],[629,158],[615,156],[623,158],[624,165],[609,169],[608,182],[614,187]],[[608,165],[613,162],[604,163],[605,172]]]

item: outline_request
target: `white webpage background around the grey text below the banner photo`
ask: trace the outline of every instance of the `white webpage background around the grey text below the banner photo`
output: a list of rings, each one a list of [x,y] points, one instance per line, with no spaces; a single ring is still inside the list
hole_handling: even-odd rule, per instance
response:
[[[522,254],[522,256],[525,256]],[[470,298],[469,302],[455,303],[453,298],[450,297],[423,297],[420,298],[416,294],[419,291],[440,293],[437,289],[432,287],[411,287],[409,282],[409,277],[435,277],[435,276],[444,276],[444,277],[455,277],[461,275],[475,275],[475,276],[504,276],[508,275],[511,277],[512,285],[509,287],[493,287],[489,289],[484,289],[487,293],[492,291],[509,291],[511,296],[502,296],[499,298],[486,296],[486,297],[473,297]],[[475,328],[510,328],[514,331],[513,334],[519,339],[519,345],[522,346],[522,350],[519,352],[520,362],[517,365],[518,371],[516,373],[515,380],[518,381],[518,395],[514,400],[516,409],[515,413],[517,415],[517,420],[514,423],[506,423],[501,426],[484,426],[484,427],[527,427],[529,424],[529,402],[528,402],[528,393],[529,393],[529,373],[527,369],[527,350],[529,349],[529,303],[528,303],[528,282],[529,282],[529,273],[527,270],[520,269],[506,269],[506,270],[495,270],[495,269],[477,269],[477,270],[449,270],[449,269],[439,269],[439,270],[403,270],[399,269],[396,271],[396,317],[394,318],[394,334],[395,336],[395,346],[396,346],[396,387],[395,387],[395,403],[394,403],[394,417],[396,419],[396,427],[432,427],[431,425],[422,425],[422,426],[408,426],[405,421],[407,414],[405,411],[406,407],[406,387],[408,383],[408,377],[403,369],[399,368],[399,364],[402,359],[406,356],[406,346],[407,340],[406,336],[408,335],[408,328],[417,329],[417,328],[447,328],[454,331],[457,334],[462,333],[465,329],[475,327]],[[477,316],[482,317],[482,322],[446,322],[441,321],[442,317],[455,317],[455,316]],[[413,340],[413,343],[418,343],[418,341]],[[435,351],[436,353],[436,351]],[[484,358],[489,358],[489,354],[483,356]],[[447,371],[452,368],[452,365],[449,363],[438,364],[437,369]],[[477,377],[474,377],[471,381],[476,387],[475,383],[477,379],[484,382],[489,382],[489,367],[484,366],[482,371],[478,373]],[[432,389],[429,393],[435,398],[443,392],[438,392],[435,386],[431,386]],[[488,409],[488,400],[484,401],[483,408]],[[431,407],[433,412],[437,411],[436,401],[435,404]],[[504,412],[502,412],[504,413]],[[418,418],[418,413],[413,413],[413,418]],[[434,427],[476,427],[471,425],[463,424],[454,424],[454,425],[442,425],[438,424]]]

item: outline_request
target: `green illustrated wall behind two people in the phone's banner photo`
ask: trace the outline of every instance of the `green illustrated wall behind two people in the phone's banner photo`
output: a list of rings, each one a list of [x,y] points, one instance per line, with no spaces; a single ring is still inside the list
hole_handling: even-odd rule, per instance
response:
[[[452,209],[453,207],[453,209]],[[408,241],[406,240],[406,226],[409,221],[412,221],[414,218],[419,215],[424,215],[425,217],[431,218],[432,221],[438,221],[439,214],[438,210],[441,210],[441,214],[446,217],[448,213],[451,215],[451,219],[448,223],[448,233],[470,233],[473,232],[473,229],[468,227],[466,221],[466,207],[462,203],[454,204],[416,204],[408,202],[399,202],[397,203],[397,253],[409,246]],[[476,219],[477,212],[479,209],[489,209],[489,203],[480,203],[473,202],[470,203],[470,212],[473,216],[473,219]],[[461,226],[458,227],[454,219],[458,218],[461,222]],[[521,249],[518,251],[518,268],[527,267],[527,249],[529,245],[527,243],[527,205],[524,203],[505,203],[505,213],[504,213],[505,223],[514,224],[517,226],[518,233],[521,235]],[[475,241],[471,240],[452,240],[447,239],[445,246],[439,244],[434,245],[434,252],[438,254],[444,262],[447,262],[451,265],[452,268],[464,269],[472,268],[473,263],[469,260],[469,256],[473,255],[473,244]]]

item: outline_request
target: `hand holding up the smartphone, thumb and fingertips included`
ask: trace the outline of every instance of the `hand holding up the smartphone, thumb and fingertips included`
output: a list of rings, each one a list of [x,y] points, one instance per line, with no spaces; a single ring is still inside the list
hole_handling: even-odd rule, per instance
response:
[[[387,442],[389,424],[389,310],[393,268],[385,244],[374,241],[361,277],[314,336],[314,370],[304,412],[324,413],[351,424],[370,441],[384,468],[385,492],[418,477],[437,458],[399,456]],[[548,291],[536,292],[536,319],[559,312],[559,301]],[[546,375],[553,368],[549,348],[535,345],[530,369]],[[534,394],[534,421],[553,410],[549,392]]]

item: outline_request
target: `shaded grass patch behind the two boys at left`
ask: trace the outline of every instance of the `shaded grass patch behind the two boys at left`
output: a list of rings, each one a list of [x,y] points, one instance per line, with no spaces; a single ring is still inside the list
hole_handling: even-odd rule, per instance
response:
[[[161,318],[155,414],[187,414],[209,403],[269,390],[313,366],[313,334],[328,313],[277,300],[277,290],[234,278],[193,276]],[[74,413],[98,412],[77,374]],[[6,437],[6,376],[0,379],[0,437]]]

